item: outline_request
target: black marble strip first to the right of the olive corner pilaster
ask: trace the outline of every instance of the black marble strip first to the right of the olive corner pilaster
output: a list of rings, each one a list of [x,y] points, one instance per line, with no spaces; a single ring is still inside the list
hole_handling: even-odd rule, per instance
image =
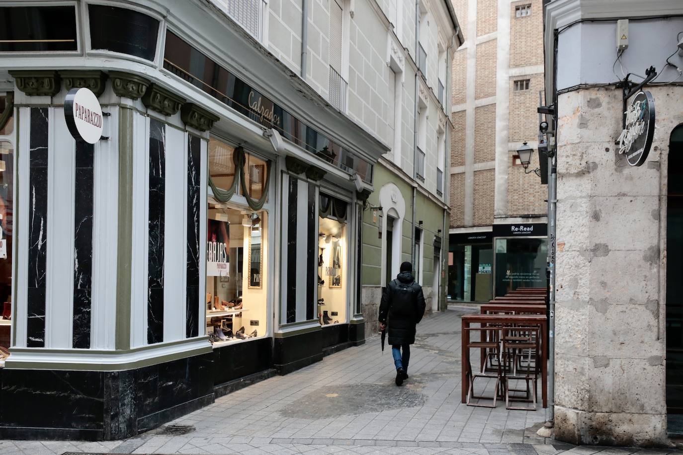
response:
[[[164,336],[164,214],[166,126],[150,119],[150,204],[148,241],[147,342]]]

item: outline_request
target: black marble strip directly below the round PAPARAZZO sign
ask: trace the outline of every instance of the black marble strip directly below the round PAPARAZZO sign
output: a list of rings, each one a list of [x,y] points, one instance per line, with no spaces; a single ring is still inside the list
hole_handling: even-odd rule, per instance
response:
[[[72,345],[90,347],[92,307],[93,150],[76,141],[74,201],[74,319]]]

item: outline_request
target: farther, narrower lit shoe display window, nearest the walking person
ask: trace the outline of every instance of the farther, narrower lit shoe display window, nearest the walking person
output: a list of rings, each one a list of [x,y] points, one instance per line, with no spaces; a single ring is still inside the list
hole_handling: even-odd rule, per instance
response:
[[[332,215],[318,223],[318,319],[321,325],[346,323],[346,224]]]

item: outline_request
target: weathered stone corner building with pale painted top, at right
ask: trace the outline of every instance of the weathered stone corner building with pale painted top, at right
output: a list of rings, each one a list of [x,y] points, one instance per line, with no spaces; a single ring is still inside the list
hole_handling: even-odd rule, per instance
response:
[[[670,447],[683,432],[683,8],[613,6],[555,0],[545,10],[546,120],[557,143],[555,438]],[[630,40],[617,49],[621,19]]]

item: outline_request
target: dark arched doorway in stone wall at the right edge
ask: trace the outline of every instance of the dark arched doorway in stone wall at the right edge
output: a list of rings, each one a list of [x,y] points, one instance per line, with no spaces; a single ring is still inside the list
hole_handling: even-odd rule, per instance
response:
[[[667,183],[667,428],[683,435],[683,123],[669,138]]]

